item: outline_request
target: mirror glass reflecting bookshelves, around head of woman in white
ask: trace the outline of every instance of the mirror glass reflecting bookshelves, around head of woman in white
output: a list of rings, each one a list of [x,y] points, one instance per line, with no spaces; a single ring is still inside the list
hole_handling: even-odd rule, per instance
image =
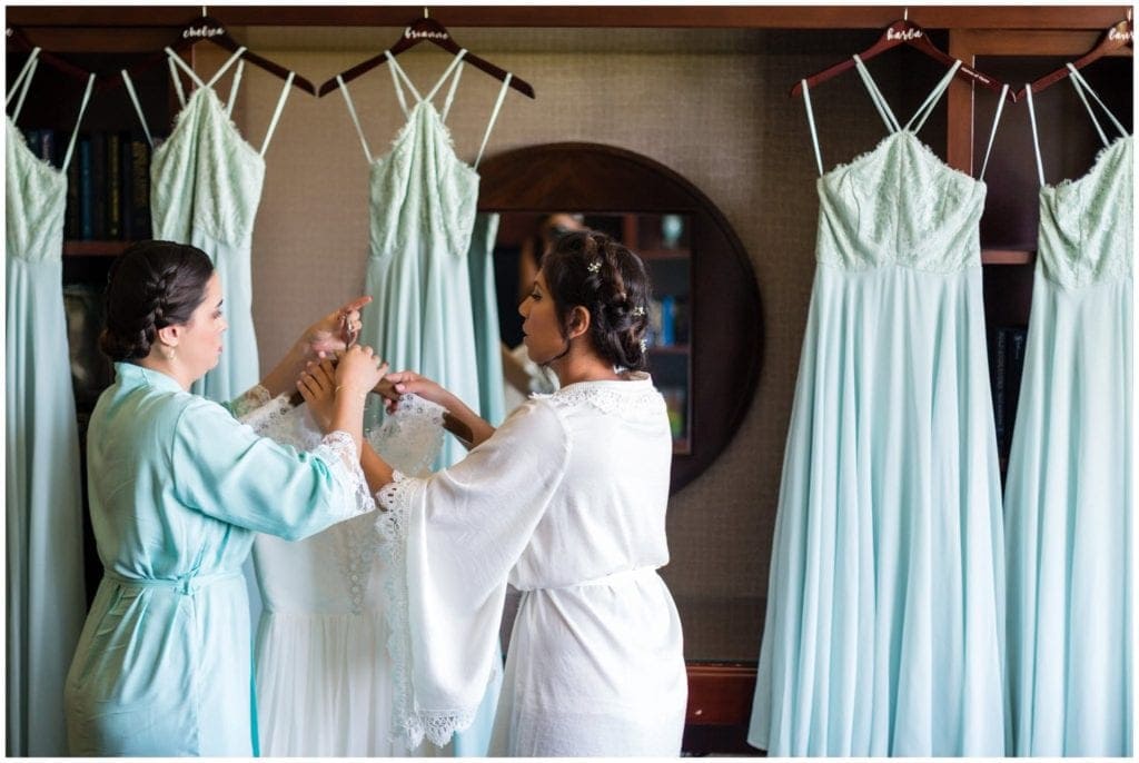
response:
[[[691,215],[654,213],[508,212],[499,218],[494,284],[503,343],[507,410],[531,392],[557,387],[552,372],[530,362],[522,345],[518,303],[530,293],[542,252],[558,236],[599,230],[638,254],[653,285],[649,372],[664,396],[674,453],[691,452]]]

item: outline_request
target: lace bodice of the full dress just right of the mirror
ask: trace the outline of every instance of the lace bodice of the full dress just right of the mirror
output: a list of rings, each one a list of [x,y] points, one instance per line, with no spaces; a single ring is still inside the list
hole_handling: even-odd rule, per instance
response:
[[[948,166],[908,130],[826,173],[818,189],[820,263],[947,273],[981,265],[984,182]]]

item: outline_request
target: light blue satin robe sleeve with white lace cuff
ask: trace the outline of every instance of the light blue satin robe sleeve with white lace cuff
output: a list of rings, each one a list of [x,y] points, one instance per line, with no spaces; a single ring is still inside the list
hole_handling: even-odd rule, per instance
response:
[[[286,540],[375,508],[355,444],[344,432],[298,452],[198,399],[179,416],[170,458],[175,495],[185,506]]]

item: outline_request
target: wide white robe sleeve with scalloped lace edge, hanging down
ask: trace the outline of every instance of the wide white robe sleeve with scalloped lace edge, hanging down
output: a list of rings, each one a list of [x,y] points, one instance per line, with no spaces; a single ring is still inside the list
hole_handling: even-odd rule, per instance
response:
[[[392,736],[443,746],[469,727],[501,670],[507,575],[560,484],[570,437],[531,400],[465,459],[377,493],[393,661]]]

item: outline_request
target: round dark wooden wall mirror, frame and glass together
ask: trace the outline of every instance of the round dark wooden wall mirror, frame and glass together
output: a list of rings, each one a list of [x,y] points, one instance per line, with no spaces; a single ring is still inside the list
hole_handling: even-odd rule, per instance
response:
[[[693,183],[612,146],[528,146],[487,158],[478,173],[478,211],[499,214],[497,270],[524,273],[541,236],[565,225],[605,230],[641,255],[654,289],[649,371],[669,404],[675,493],[731,441],[755,394],[762,311],[739,238]],[[506,345],[515,296],[500,280]]]

